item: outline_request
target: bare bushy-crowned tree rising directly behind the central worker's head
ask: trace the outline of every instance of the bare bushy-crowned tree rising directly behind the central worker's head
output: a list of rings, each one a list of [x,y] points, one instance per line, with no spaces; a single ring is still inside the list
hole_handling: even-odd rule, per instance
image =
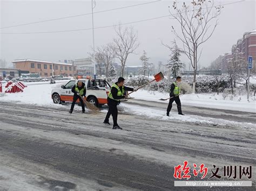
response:
[[[129,54],[134,53],[138,48],[138,36],[134,33],[133,27],[125,27],[122,29],[119,24],[114,28],[117,33],[117,37],[113,39],[116,46],[115,54],[116,58],[121,62],[121,76],[124,76],[124,67]]]

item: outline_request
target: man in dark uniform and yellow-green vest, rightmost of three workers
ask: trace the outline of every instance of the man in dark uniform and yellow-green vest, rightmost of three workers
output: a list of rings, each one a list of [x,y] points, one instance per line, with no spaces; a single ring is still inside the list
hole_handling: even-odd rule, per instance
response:
[[[184,115],[181,111],[181,103],[180,103],[180,99],[179,99],[179,94],[180,94],[180,88],[179,88],[179,82],[181,82],[181,77],[180,76],[177,76],[176,77],[176,82],[173,82],[171,84],[171,90],[170,90],[170,100],[169,100],[169,104],[168,104],[168,107],[167,107],[167,112],[166,112],[166,115],[169,116],[170,114],[170,111],[172,109],[172,103],[173,101],[176,102],[177,104],[177,109],[178,109],[178,114],[179,115]]]

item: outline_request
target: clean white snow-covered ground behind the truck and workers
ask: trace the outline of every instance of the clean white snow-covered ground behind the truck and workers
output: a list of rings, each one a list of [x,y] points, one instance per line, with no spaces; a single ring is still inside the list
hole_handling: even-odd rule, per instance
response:
[[[55,105],[55,107],[61,107],[61,105],[54,104],[51,99],[51,89],[60,87],[68,81],[56,81],[56,84],[50,84],[49,82],[27,82],[28,87],[24,89],[23,93],[15,94],[1,94],[0,101],[38,104],[38,105]],[[157,91],[138,90],[131,94],[137,100],[146,100],[154,102],[168,103],[169,101],[160,101],[160,98],[168,98],[169,94],[159,93]],[[233,97],[227,96],[224,100],[222,94],[187,94],[180,96],[181,103],[183,105],[192,105],[204,108],[214,109],[227,109],[237,111],[256,112],[256,98],[250,97],[250,102],[247,101],[247,96]]]

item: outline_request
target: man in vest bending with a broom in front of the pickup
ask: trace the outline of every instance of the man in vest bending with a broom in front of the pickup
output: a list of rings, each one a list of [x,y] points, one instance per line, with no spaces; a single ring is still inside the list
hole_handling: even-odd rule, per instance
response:
[[[85,112],[84,109],[84,101],[82,100],[82,98],[80,96],[82,96],[83,98],[86,95],[86,88],[85,88],[85,84],[82,81],[78,81],[77,84],[75,84],[75,86],[72,87],[71,89],[72,93],[74,93],[73,96],[73,102],[71,104],[71,108],[70,108],[70,114],[72,114],[73,109],[75,107],[76,101],[79,99],[81,105],[82,105],[82,112]]]

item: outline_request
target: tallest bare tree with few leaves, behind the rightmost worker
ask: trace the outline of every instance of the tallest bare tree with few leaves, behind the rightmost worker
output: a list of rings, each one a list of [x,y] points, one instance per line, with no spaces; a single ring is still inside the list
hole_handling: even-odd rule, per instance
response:
[[[203,48],[200,50],[199,48],[212,36],[217,26],[217,17],[223,7],[214,6],[213,0],[193,0],[189,4],[183,2],[181,7],[177,2],[173,2],[173,11],[170,10],[170,14],[178,21],[181,33],[178,33],[173,26],[172,31],[183,43],[183,51],[194,70],[193,93],[195,93],[198,61],[203,51]]]

